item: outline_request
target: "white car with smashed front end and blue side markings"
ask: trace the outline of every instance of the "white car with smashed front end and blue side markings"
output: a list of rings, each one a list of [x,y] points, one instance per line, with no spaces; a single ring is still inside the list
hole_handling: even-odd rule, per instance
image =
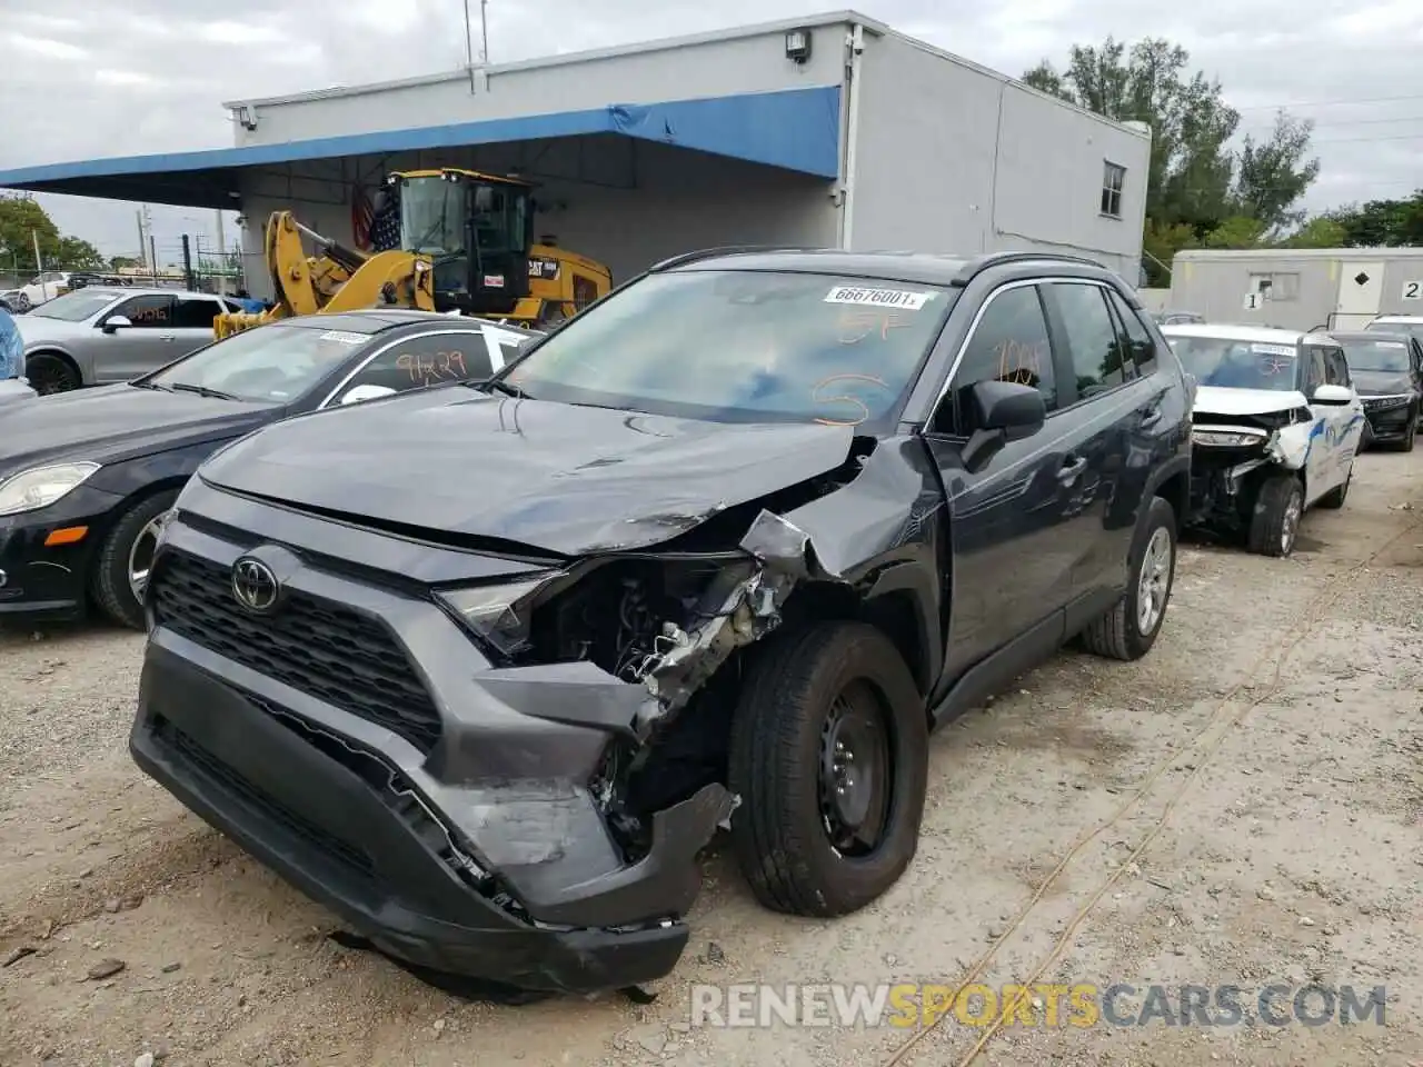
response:
[[[1342,508],[1363,437],[1363,401],[1326,333],[1163,326],[1198,388],[1185,525],[1288,556],[1308,508]]]

